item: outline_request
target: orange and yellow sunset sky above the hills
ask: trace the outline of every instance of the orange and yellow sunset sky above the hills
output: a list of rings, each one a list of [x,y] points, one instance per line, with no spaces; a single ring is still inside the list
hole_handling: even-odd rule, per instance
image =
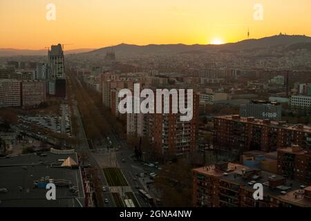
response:
[[[46,20],[46,5],[56,21]],[[254,20],[262,3],[263,21]],[[220,44],[279,34],[311,36],[310,0],[0,0],[0,48]]]

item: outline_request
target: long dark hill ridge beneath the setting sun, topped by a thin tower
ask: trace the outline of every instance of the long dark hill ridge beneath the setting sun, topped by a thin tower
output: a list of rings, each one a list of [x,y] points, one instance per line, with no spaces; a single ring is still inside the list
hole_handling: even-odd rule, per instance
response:
[[[248,39],[238,41],[236,43],[228,43],[223,45],[185,45],[185,44],[149,44],[147,46],[137,46],[133,44],[119,44],[113,48],[105,47],[92,50],[87,54],[104,55],[106,52],[113,51],[116,54],[123,55],[145,55],[145,54],[172,54],[172,53],[201,53],[207,50],[250,50],[255,48],[270,48],[274,46],[290,46],[292,44],[311,43],[311,37],[305,35],[274,35],[272,37],[264,37],[261,39]]]

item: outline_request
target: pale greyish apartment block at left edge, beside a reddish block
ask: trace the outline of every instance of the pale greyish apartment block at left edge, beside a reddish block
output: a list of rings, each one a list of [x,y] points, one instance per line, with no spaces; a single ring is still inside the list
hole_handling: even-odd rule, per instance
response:
[[[21,81],[0,79],[0,108],[21,106]]]

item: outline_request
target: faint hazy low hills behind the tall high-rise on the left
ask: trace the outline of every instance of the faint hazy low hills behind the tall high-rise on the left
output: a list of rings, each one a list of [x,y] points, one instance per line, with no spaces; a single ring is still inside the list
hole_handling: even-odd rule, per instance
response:
[[[88,52],[94,50],[94,48],[80,48],[74,50],[65,50],[65,54],[77,54],[82,52]],[[34,56],[34,55],[48,55],[46,50],[23,50],[15,48],[0,48],[0,56],[16,56],[16,55],[25,55],[25,56]]]

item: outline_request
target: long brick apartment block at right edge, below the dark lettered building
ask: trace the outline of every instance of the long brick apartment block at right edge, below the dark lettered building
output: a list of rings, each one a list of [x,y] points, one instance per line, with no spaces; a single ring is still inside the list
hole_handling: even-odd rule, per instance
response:
[[[311,149],[310,126],[240,115],[214,117],[214,148],[223,153],[270,152],[293,144]]]

